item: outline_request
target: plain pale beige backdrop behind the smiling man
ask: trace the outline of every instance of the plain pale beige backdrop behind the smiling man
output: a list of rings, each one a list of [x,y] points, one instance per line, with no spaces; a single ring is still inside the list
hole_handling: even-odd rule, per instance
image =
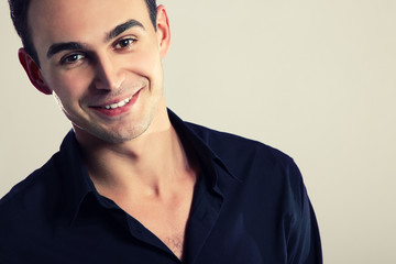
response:
[[[163,0],[168,106],[292,155],[326,263],[396,263],[394,0]],[[57,150],[69,123],[32,88],[0,3],[0,196]]]

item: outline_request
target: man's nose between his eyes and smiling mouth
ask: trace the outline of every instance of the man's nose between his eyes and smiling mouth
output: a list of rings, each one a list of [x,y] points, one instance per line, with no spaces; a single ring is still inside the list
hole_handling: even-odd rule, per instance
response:
[[[98,56],[96,59],[95,88],[99,90],[119,89],[124,80],[121,67],[118,66],[116,58],[109,56]]]

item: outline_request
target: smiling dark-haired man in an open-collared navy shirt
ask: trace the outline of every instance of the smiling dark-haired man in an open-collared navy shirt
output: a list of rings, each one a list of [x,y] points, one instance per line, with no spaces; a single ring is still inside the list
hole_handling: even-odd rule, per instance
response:
[[[293,160],[167,110],[153,0],[10,0],[31,82],[73,124],[0,201],[0,263],[321,263]]]

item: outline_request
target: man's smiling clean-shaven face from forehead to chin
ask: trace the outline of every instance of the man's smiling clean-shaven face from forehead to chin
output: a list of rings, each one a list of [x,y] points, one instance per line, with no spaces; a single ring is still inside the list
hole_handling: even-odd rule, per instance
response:
[[[144,0],[32,0],[29,22],[42,79],[76,133],[123,142],[146,131],[165,106],[168,42]]]

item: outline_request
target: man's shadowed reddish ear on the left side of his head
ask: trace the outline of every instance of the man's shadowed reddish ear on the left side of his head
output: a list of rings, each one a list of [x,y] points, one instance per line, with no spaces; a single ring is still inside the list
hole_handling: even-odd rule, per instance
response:
[[[34,87],[45,95],[52,95],[52,90],[45,84],[37,64],[26,53],[26,51],[24,48],[20,48],[18,52],[18,56],[21,65],[28,74],[30,81],[34,85]]]

